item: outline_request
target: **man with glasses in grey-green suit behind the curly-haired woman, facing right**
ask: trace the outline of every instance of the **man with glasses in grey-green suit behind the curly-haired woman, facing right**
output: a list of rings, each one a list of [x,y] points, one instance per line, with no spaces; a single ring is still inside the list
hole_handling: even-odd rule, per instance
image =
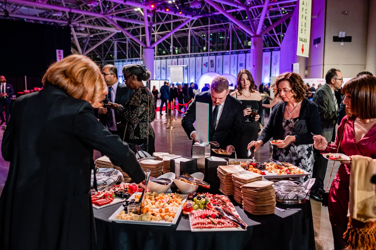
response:
[[[314,94],[313,102],[318,106],[321,119],[321,134],[326,141],[335,140],[335,125],[338,117],[338,103],[334,91],[340,89],[343,83],[343,76],[340,70],[331,68],[325,76],[325,82]],[[319,150],[313,149],[314,164],[312,178],[316,178],[312,186],[310,197],[318,202],[322,202],[324,190],[324,178],[328,160],[325,159]]]

